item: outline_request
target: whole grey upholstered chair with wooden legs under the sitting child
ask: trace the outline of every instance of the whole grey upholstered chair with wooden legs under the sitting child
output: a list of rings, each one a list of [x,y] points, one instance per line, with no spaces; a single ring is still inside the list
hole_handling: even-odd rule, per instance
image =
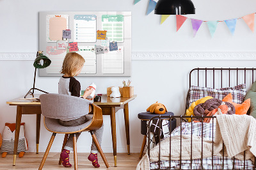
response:
[[[102,117],[102,110],[99,106],[90,104],[90,109],[86,107],[88,103],[91,103],[89,100],[84,100],[84,98],[79,97],[72,97],[68,95],[61,95],[61,94],[44,94],[40,95],[40,102],[41,102],[41,110],[42,115],[45,116],[44,118],[44,125],[47,130],[52,132],[51,140],[47,146],[45,151],[44,157],[40,164],[39,169],[42,169],[44,166],[45,160],[47,155],[51,149],[52,143],[54,141],[56,134],[65,134],[62,150],[67,143],[68,134],[74,134],[73,137],[73,149],[74,149],[74,169],[77,169],[77,146],[76,146],[76,134],[77,132],[82,131],[89,131],[92,135],[93,142],[96,144],[97,149],[108,168],[108,161],[104,156],[102,149],[100,148],[99,142],[95,134],[93,134],[93,130],[97,130],[102,126],[103,117]],[[84,112],[93,112],[92,121],[88,121],[83,125],[79,125],[76,127],[65,127],[60,125],[58,122],[59,119],[67,119],[67,118],[77,118],[79,116],[83,116]],[[91,115],[90,115],[91,116]],[[61,165],[61,158],[59,161]]]

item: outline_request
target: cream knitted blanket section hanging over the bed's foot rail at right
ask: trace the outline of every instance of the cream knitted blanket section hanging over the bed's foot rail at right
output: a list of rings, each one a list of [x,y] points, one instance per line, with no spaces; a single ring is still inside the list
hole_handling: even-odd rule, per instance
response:
[[[256,155],[256,120],[252,116],[220,114],[217,117],[215,146],[222,146],[223,141],[228,157],[243,160]]]

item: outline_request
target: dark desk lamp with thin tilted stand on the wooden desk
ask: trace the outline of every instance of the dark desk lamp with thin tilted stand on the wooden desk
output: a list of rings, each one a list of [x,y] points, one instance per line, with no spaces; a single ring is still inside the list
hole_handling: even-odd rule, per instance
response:
[[[44,61],[44,63],[41,64],[40,61]],[[36,82],[36,68],[46,68],[47,66],[51,65],[51,60],[49,58],[47,58],[47,56],[43,55],[42,51],[38,51],[36,53],[36,59],[34,61],[34,67],[35,67],[35,75],[34,75],[34,84],[33,84],[33,88],[29,89],[28,93],[26,94],[26,96],[24,98],[26,98],[29,94],[32,95],[34,97],[34,90],[37,89],[38,91],[42,91],[44,93],[47,93],[46,91],[43,91],[42,89],[38,89],[35,88],[35,82]],[[33,90],[31,92],[31,90]]]

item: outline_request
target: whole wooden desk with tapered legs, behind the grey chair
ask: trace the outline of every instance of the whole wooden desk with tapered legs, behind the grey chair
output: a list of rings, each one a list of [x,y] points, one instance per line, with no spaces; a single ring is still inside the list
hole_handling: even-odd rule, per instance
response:
[[[30,96],[31,97],[31,96]],[[30,98],[29,96],[27,98]],[[39,97],[39,95],[35,95]],[[101,102],[94,102],[99,105],[102,109],[103,115],[109,115],[111,118],[111,132],[112,132],[112,143],[113,143],[113,155],[116,166],[116,118],[115,113],[119,109],[124,109],[124,121],[125,121],[125,133],[127,140],[127,151],[130,154],[130,135],[129,135],[129,107],[128,102],[136,98],[137,95],[129,98],[110,98],[103,95]],[[17,156],[18,139],[20,132],[20,121],[22,114],[36,114],[36,153],[38,153],[39,137],[40,137],[40,120],[41,120],[41,104],[36,100],[25,100],[24,97],[15,98],[6,102],[9,105],[17,105],[16,114],[16,127],[15,127],[15,142],[13,150],[13,166],[15,166],[15,160]]]

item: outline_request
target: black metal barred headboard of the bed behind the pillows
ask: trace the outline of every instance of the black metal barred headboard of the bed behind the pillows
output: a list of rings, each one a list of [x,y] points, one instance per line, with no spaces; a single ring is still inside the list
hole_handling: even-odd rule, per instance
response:
[[[189,88],[191,86],[228,88],[244,83],[248,89],[255,81],[255,70],[256,68],[194,68],[189,73]],[[189,91],[186,98],[186,109],[188,107]]]

